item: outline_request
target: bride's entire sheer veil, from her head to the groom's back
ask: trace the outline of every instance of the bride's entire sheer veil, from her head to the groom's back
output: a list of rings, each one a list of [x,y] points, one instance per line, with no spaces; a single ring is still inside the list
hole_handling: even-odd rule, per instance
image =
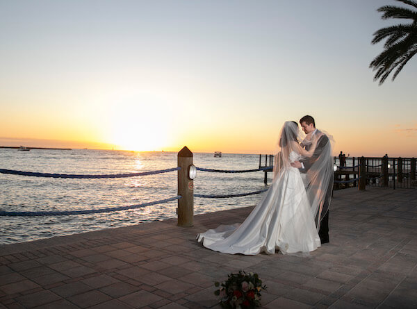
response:
[[[332,187],[334,181],[332,149],[333,137],[323,131],[318,139],[316,150],[311,157],[296,156],[300,153],[300,147],[309,149],[311,141],[304,138],[296,122],[285,122],[279,134],[278,149],[275,154],[274,182],[291,167],[291,162],[300,160],[305,169],[300,169],[303,176],[304,187],[309,197],[311,212],[316,219],[317,229],[320,228],[320,221],[329,210],[332,198]],[[301,146],[300,146],[301,144]]]

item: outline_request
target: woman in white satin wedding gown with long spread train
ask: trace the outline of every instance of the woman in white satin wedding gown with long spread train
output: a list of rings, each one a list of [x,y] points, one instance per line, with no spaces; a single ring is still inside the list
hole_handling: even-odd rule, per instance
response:
[[[261,202],[242,224],[221,225],[197,235],[204,247],[222,253],[256,255],[260,252],[308,253],[320,247],[316,214],[311,210],[309,197],[299,169],[291,162],[309,158],[322,133],[307,136],[303,144],[311,143],[309,151],[300,146],[301,131],[296,122],[285,122],[281,128],[275,157],[274,180]]]

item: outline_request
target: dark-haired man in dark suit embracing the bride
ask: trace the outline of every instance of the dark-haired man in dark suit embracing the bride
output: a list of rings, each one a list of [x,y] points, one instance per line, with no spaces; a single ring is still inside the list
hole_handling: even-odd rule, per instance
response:
[[[300,124],[302,126],[302,131],[304,131],[304,133],[306,133],[306,135],[308,136],[313,136],[313,135],[320,133],[320,131],[316,129],[316,123],[314,122],[314,118],[309,115],[302,117],[300,119]],[[329,137],[323,134],[322,136],[319,137],[316,150],[314,151],[313,156],[311,156],[311,158],[305,158],[303,160],[291,163],[291,165],[293,167],[297,167],[297,169],[300,169],[300,172],[305,174],[313,165],[313,163],[316,162],[316,160],[320,157],[327,143],[329,143]],[[311,144],[302,143],[301,146],[304,147],[308,151],[311,147]],[[332,195],[332,189],[333,189],[333,181],[329,183],[327,187],[327,192],[325,194],[325,201],[323,203],[323,209],[329,209],[329,197]],[[329,242],[329,211],[328,210],[325,216],[321,218],[320,229],[318,231],[318,235],[320,236],[320,241],[322,244]]]

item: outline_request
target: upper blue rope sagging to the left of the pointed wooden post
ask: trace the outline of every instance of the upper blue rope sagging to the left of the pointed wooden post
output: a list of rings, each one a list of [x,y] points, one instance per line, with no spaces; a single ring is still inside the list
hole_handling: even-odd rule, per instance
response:
[[[173,167],[171,169],[161,169],[158,171],[151,171],[151,172],[139,172],[139,173],[129,173],[129,174],[104,174],[104,175],[51,174],[51,173],[15,171],[13,169],[0,169],[0,173],[20,175],[20,176],[51,177],[51,178],[126,178],[126,177],[147,176],[147,175],[169,173],[169,172],[178,171],[180,168],[181,167]]]

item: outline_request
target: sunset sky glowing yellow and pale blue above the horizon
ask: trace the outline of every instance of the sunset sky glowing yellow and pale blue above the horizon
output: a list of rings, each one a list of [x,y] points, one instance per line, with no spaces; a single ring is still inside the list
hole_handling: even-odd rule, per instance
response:
[[[309,114],[335,154],[417,156],[417,56],[368,67],[385,4],[0,1],[0,145],[272,153]]]

